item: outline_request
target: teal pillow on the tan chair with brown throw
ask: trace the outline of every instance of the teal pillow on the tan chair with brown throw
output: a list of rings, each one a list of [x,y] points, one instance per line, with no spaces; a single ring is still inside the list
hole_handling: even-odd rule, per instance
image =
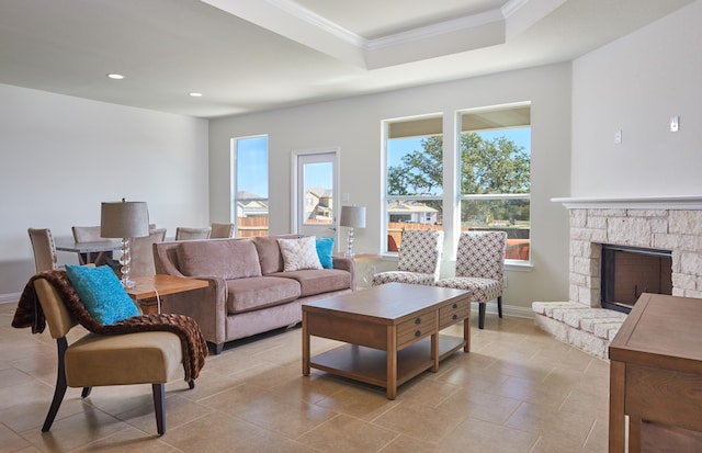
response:
[[[88,268],[67,264],[66,274],[95,321],[112,325],[140,315],[109,265]]]

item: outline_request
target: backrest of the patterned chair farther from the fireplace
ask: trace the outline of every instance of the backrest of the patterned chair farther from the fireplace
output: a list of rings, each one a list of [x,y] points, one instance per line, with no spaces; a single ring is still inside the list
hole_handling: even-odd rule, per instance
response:
[[[442,250],[442,230],[406,229],[399,245],[397,270],[434,274],[438,279]]]

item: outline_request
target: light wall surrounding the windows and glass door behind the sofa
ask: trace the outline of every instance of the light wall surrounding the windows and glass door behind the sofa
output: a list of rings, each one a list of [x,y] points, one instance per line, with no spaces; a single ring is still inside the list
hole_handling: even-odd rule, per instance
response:
[[[458,110],[531,101],[534,265],[531,272],[508,273],[505,303],[531,312],[533,301],[567,301],[567,212],[550,199],[562,196],[569,188],[570,79],[569,64],[554,65],[212,120],[211,214],[228,218],[230,138],[269,135],[272,234],[291,230],[291,151],[339,146],[341,192],[350,193],[351,203],[367,207],[367,227],[354,231],[354,249],[378,252],[385,240],[381,237],[382,120],[440,112],[449,118],[445,125],[452,124]],[[452,132],[444,131],[444,135],[452,136]]]

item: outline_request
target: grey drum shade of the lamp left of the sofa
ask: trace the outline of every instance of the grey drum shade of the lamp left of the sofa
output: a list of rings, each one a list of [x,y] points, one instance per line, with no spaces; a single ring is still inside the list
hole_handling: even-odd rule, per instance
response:
[[[100,236],[103,238],[139,238],[149,235],[149,211],[146,202],[103,202]]]

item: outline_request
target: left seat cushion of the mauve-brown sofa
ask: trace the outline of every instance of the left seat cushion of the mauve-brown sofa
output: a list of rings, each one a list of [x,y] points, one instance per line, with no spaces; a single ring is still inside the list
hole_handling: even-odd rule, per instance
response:
[[[299,297],[299,283],[293,279],[258,276],[227,281],[227,312],[241,313],[284,304]]]

